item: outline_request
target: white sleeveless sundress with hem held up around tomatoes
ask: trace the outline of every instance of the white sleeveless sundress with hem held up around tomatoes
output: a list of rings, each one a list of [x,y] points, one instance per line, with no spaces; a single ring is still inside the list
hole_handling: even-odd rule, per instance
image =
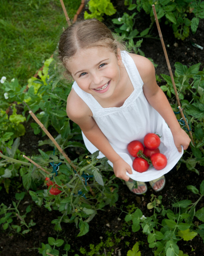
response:
[[[133,140],[143,143],[147,133],[157,132],[161,136],[160,152],[168,160],[167,166],[162,170],[149,167],[146,172],[139,173],[132,168],[132,174],[126,174],[137,181],[150,181],[157,179],[169,172],[183,155],[179,153],[173,140],[171,130],[162,116],[148,103],[144,96],[143,81],[131,56],[126,51],[121,51],[122,62],[129,75],[134,91],[119,108],[103,108],[99,102],[89,93],[83,91],[76,82],[73,84],[75,92],[83,99],[93,113],[93,118],[106,136],[117,154],[132,167],[134,160],[127,151],[127,145]],[[161,105],[161,108],[163,106]],[[98,149],[83,134],[84,143],[92,154]],[[99,152],[98,158],[104,155]],[[113,164],[108,161],[113,166]]]

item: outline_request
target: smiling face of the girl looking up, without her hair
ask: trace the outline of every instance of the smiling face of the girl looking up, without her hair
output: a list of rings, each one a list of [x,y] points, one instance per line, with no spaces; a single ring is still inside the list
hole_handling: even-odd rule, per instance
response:
[[[110,97],[120,79],[121,55],[106,47],[80,49],[69,61],[68,70],[79,87],[94,97]]]

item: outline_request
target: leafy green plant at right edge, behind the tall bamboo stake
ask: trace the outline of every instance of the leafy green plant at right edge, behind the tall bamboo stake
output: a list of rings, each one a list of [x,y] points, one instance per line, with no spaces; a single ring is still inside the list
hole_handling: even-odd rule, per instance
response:
[[[195,142],[191,144],[191,152],[187,160],[181,159],[188,169],[195,171],[199,174],[196,169],[196,164],[201,166],[204,165],[204,150],[202,146],[204,145],[204,70],[199,71],[200,63],[187,67],[182,65],[180,62],[175,63],[175,77],[174,81],[178,91],[179,98],[181,99],[181,104],[184,109],[184,114],[190,125],[190,129],[193,133],[193,139]],[[162,78],[167,82],[166,85],[162,85],[161,89],[166,92],[170,100],[174,101],[174,89],[170,76],[161,74]],[[181,127],[185,127],[185,123],[179,116],[177,110],[177,105],[172,103],[172,108],[174,109],[177,119],[181,124]]]

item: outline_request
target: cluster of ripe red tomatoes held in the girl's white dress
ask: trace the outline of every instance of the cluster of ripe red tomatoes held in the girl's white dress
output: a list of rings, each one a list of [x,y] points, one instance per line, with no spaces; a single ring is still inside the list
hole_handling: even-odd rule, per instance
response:
[[[137,172],[145,172],[152,164],[156,170],[162,170],[167,165],[167,158],[159,150],[160,137],[155,133],[147,133],[144,137],[144,146],[138,140],[127,145],[127,150],[135,157],[132,167]]]

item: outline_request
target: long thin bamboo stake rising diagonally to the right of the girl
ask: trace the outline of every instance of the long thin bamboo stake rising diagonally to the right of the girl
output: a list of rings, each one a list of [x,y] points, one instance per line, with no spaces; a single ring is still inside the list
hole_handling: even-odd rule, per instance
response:
[[[165,47],[165,44],[164,44],[162,32],[161,32],[161,29],[160,29],[160,24],[159,24],[158,17],[157,17],[157,12],[156,12],[154,4],[152,4],[152,9],[153,9],[153,13],[154,13],[154,16],[155,16],[155,21],[156,21],[156,24],[157,24],[157,29],[158,29],[158,32],[159,32],[160,40],[161,40],[161,43],[162,43],[162,48],[164,50],[164,55],[165,55],[165,58],[166,58],[166,61],[167,61],[168,70],[169,70],[170,77],[171,77],[171,80],[172,80],[172,84],[173,84],[173,87],[174,87],[175,96],[176,96],[176,100],[177,100],[177,103],[178,103],[178,108],[179,108],[181,116],[183,117],[183,120],[184,120],[184,122],[185,122],[185,124],[188,128],[188,131],[189,131],[189,134],[190,134],[190,137],[191,137],[191,141],[192,141],[193,145],[195,146],[195,142],[194,142],[194,139],[193,139],[193,136],[192,136],[192,132],[190,131],[189,125],[188,125],[188,123],[186,121],[186,118],[184,116],[184,113],[183,113],[183,109],[181,108],[181,103],[180,103],[179,96],[178,96],[178,93],[177,93],[176,84],[175,84],[175,81],[174,81],[174,76],[173,76],[173,73],[172,73],[171,65],[170,65],[170,62],[169,62],[167,50],[166,50],[166,47]]]

